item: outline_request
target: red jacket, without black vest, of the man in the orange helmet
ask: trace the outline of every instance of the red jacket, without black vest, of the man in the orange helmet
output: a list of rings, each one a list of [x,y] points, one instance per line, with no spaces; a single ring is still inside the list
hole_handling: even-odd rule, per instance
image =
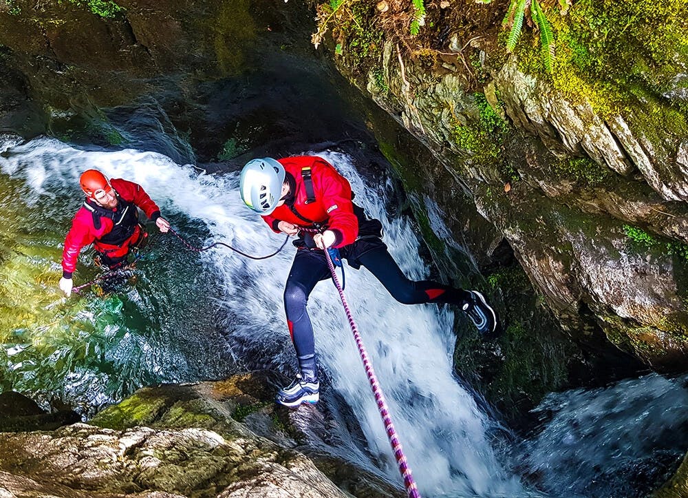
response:
[[[115,189],[121,200],[140,207],[143,212],[155,221],[160,218],[160,208],[153,200],[146,194],[146,191],[138,185],[138,183],[122,180],[122,178],[113,178],[110,180],[110,185]],[[104,208],[103,208],[104,209]],[[112,210],[114,214],[118,213],[122,207],[118,206]],[[134,208],[136,209],[136,208]],[[99,220],[100,227],[96,227],[96,218]],[[138,216],[137,218],[138,219]],[[76,269],[76,259],[79,252],[85,246],[95,242],[96,251],[106,252],[109,256],[125,256],[129,251],[129,243],[136,240],[140,234],[140,229],[135,227],[133,234],[123,240],[122,242],[111,245],[99,240],[109,234],[114,228],[114,221],[107,216],[98,216],[94,214],[86,205],[76,211],[74,220],[72,221],[72,228],[69,229],[67,238],[65,238],[65,249],[62,253],[62,270],[65,278],[70,278],[74,269]]]

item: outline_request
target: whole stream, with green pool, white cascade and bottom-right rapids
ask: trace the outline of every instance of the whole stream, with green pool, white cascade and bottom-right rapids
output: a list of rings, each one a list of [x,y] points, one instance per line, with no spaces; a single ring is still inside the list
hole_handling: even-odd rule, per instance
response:
[[[50,294],[47,314],[38,315],[38,323],[23,331],[0,331],[4,368],[13,369],[12,375],[27,392],[45,394],[52,388],[71,402],[100,406],[146,382],[216,379],[235,372],[237,364],[292,375],[296,362],[282,303],[295,251],[290,244],[273,258],[254,261],[222,247],[192,253],[173,236],[153,234],[152,227],[152,256],[138,268],[141,276],[135,284],[126,284],[114,297],[103,300],[67,300],[56,287],[63,236],[82,196],[78,176],[92,167],[109,177],[140,183],[175,230],[195,245],[222,240],[259,256],[274,251],[284,237],[270,231],[241,202],[237,172],[210,175],[162,154],[131,149],[87,151],[51,138],[0,144],[0,150],[4,150],[0,188],[12,194],[12,202],[19,203],[19,212],[25,214],[18,222],[21,227],[12,233],[21,234],[43,216],[50,236],[32,243],[52,248],[36,260],[54,280],[41,287],[41,293]],[[346,154],[320,155],[350,180],[356,202],[367,214],[383,222],[385,242],[407,276],[427,278],[429,269],[419,257],[420,241],[411,220],[390,216],[386,209],[391,184],[365,178]],[[436,206],[433,212],[431,222],[441,228]],[[80,262],[76,285],[92,276],[87,254]],[[452,327],[457,310],[400,304],[367,270],[356,271],[345,264],[345,272],[347,300],[424,496],[537,494],[522,485],[521,474],[529,475],[552,496],[584,493],[590,489],[586,483],[600,468],[619,471],[624,461],[619,455],[636,460],[652,455],[652,448],[631,437],[632,433],[660,431],[650,422],[672,430],[682,426],[686,433],[685,413],[678,413],[687,404],[685,386],[655,375],[618,384],[611,391],[552,395],[540,409],[557,415],[544,419],[541,432],[532,439],[511,442],[505,451],[506,439],[495,439],[499,424],[481,410],[475,393],[469,393],[453,373]],[[38,300],[38,295],[36,290],[32,298]],[[112,304],[114,298],[118,301]],[[82,304],[76,307],[75,302]],[[365,448],[353,436],[339,439],[338,454],[351,455],[352,461],[398,483],[387,435],[332,282],[316,286],[308,309],[326,374],[321,404],[315,409],[327,406],[337,415],[334,399],[344,400],[347,413],[356,418],[365,437]],[[59,336],[60,344],[83,344],[87,353],[91,351],[87,356],[94,353],[98,361],[72,358],[76,366],[58,376],[61,386],[32,384],[41,375],[48,376],[47,371],[36,375],[28,363],[38,361],[30,351],[48,330],[41,320],[59,322],[54,337]],[[67,336],[72,337],[71,343],[64,342]],[[43,360],[54,364],[66,350],[58,348],[53,357]],[[2,360],[0,355],[0,368]],[[625,398],[624,393],[634,392],[634,386],[638,394],[632,400]],[[657,405],[659,391],[665,394]],[[647,411],[638,412],[643,405]],[[653,406],[673,412],[669,415]],[[614,424],[600,426],[610,409],[618,415]],[[631,424],[630,417],[636,417],[633,421],[639,425]],[[641,419],[645,422],[638,422]],[[595,442],[604,431],[624,436],[617,437],[613,448],[599,448]],[[539,477],[533,477],[536,474]]]

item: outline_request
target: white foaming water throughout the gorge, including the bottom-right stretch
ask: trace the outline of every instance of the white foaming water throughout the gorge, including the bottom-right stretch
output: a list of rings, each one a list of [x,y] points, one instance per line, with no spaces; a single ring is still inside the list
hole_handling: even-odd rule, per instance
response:
[[[389,185],[364,185],[347,156],[325,154],[325,158],[350,179],[357,202],[365,207],[369,216],[383,221],[385,242],[402,270],[411,278],[427,276],[427,268],[418,256],[418,238],[408,220],[389,219],[385,213]],[[241,203],[237,174],[209,176],[190,165],[177,165],[160,154],[133,150],[85,152],[47,138],[14,146],[6,157],[0,156],[1,172],[22,178],[30,187],[25,202],[54,203],[61,209],[54,209],[52,216],[67,218],[71,218],[72,211],[78,207],[78,176],[89,167],[98,167],[111,177],[140,183],[182,235],[185,234],[185,220],[191,218],[207,225],[211,237],[206,243],[222,240],[248,253],[266,254],[283,242],[282,236],[273,234],[257,214]],[[69,207],[65,208],[65,204]],[[70,212],[65,213],[65,209]],[[438,220],[433,219],[433,223]],[[225,288],[223,295],[216,298],[216,319],[223,320],[222,326],[231,334],[227,346],[232,346],[239,357],[252,355],[257,366],[277,368],[286,375],[291,375],[295,359],[286,329],[282,291],[294,250],[288,245],[275,258],[264,261],[240,258],[222,248],[200,256],[201,264],[215,268]],[[189,256],[190,264],[197,264],[194,258]],[[347,300],[422,494],[426,497],[531,495],[518,477],[504,470],[495,454],[491,436],[497,428],[495,422],[480,411],[473,396],[453,377],[452,312],[440,310],[435,305],[399,304],[365,269],[354,271],[345,267],[345,271]],[[75,278],[78,284],[78,274]],[[202,285],[204,282],[192,283]],[[184,300],[183,289],[180,285],[178,295],[172,291],[162,302],[173,304],[175,300]],[[309,310],[316,330],[316,350],[330,384],[323,388],[323,393],[336,391],[352,408],[365,435],[370,456],[356,447],[353,438],[341,441],[344,447],[339,448],[339,454],[346,455],[348,451],[352,461],[370,470],[377,468],[377,472],[383,473],[389,481],[399,484],[398,469],[383,423],[331,282],[321,282],[316,287]],[[194,318],[187,317],[190,322]],[[180,351],[181,355],[184,353],[193,356],[197,351]],[[255,360],[255,357],[263,359]],[[213,359],[209,358],[208,362],[212,363]],[[163,381],[166,369],[176,371],[171,364],[164,363],[154,368],[158,369]],[[188,375],[182,371],[169,375],[169,380],[193,380]],[[656,386],[641,383],[636,391],[630,390],[636,384],[619,386],[619,391],[612,393],[614,403],[621,406],[618,424],[600,423],[605,417],[603,408],[609,403],[610,391],[574,391],[569,400],[559,402],[563,403],[563,408],[559,406],[560,415],[548,422],[541,435],[517,449],[519,455],[525,456],[513,456],[516,460],[513,466],[525,468],[524,472],[540,473],[542,488],[553,496],[581,492],[585,481],[592,480],[600,466],[605,471],[605,463],[618,462],[610,455],[598,453],[594,442],[595,437],[605,434],[613,437],[623,429],[625,410],[633,413],[631,406],[623,404],[621,393],[636,392],[636,397],[649,396],[649,402],[653,402],[649,393],[656,391]],[[680,386],[680,382],[669,382],[669,385],[674,386],[672,399],[685,408],[685,387]],[[677,393],[682,393],[684,398],[677,397]],[[557,400],[556,397],[552,399]],[[327,400],[323,403],[327,404]],[[585,415],[586,407],[589,413],[590,406],[598,406],[599,411],[592,422]],[[671,420],[658,417],[660,423],[676,426],[682,421],[685,424],[685,414],[680,415],[678,411],[672,414],[671,417],[667,415]],[[590,426],[588,434],[595,437],[579,438],[562,432],[561,428],[571,419],[580,419],[579,424]],[[643,430],[660,432],[661,428],[643,426]],[[579,448],[581,439],[586,443]],[[633,445],[625,442],[620,446],[621,455],[625,455],[628,446]],[[566,453],[566,448],[575,451]],[[632,449],[630,458],[647,450],[641,448],[636,452]],[[588,453],[590,457],[585,456]]]

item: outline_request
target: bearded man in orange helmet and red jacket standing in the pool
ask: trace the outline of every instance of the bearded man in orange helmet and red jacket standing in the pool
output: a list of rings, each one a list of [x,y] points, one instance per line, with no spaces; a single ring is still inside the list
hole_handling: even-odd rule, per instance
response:
[[[94,243],[96,262],[110,269],[127,260],[129,251],[141,247],[148,234],[138,222],[138,208],[155,222],[163,233],[170,224],[160,216],[160,208],[138,185],[122,178],[108,180],[97,169],[88,169],[79,179],[86,194],[65,238],[62,253],[60,289],[72,294],[72,273],[81,249]]]

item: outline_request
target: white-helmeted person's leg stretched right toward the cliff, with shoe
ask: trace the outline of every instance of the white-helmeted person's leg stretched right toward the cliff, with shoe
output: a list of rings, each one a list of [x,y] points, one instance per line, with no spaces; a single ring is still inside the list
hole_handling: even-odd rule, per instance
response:
[[[455,289],[433,280],[409,280],[385,247],[373,249],[358,260],[385,286],[394,299],[404,304],[446,302],[455,304],[475,324],[478,332],[492,333],[497,327],[497,315],[482,293]]]

